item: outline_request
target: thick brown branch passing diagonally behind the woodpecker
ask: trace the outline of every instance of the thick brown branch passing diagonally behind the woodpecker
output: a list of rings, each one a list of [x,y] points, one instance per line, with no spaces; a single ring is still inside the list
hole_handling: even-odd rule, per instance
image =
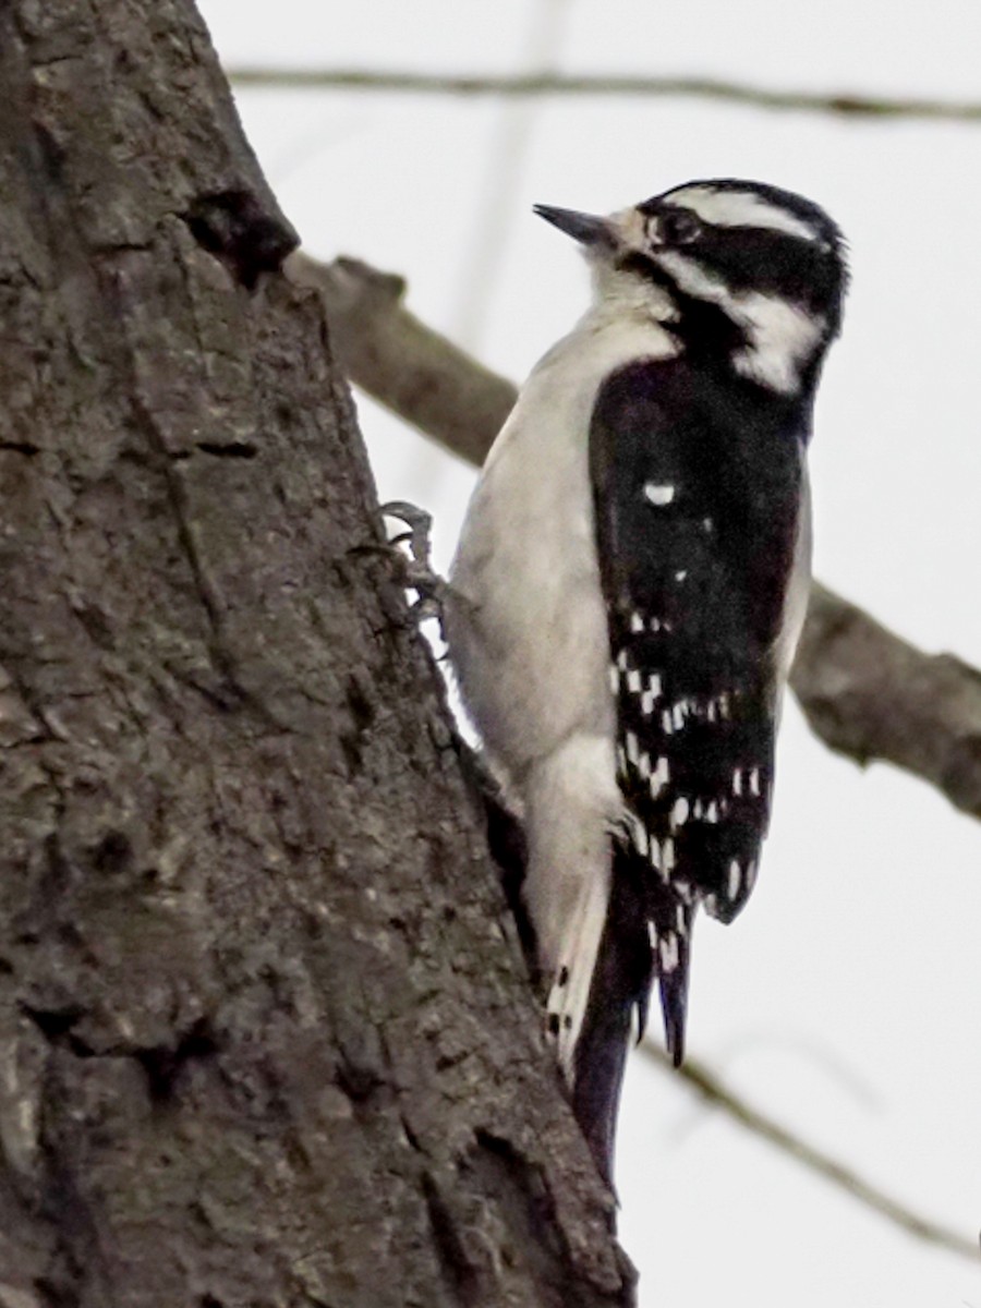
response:
[[[294,280],[324,297],[349,377],[445,449],[480,464],[514,386],[425,327],[405,284],[356,259],[290,255]],[[981,818],[981,672],[930,655],[815,583],[791,676],[814,731],[859,764],[882,759]]]

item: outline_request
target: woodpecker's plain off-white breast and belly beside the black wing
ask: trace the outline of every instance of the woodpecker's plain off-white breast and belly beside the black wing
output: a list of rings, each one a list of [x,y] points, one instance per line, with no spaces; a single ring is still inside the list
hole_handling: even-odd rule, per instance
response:
[[[447,634],[464,702],[513,780],[574,731],[612,736],[590,417],[617,368],[676,353],[649,315],[594,309],[538,364],[481,472]]]

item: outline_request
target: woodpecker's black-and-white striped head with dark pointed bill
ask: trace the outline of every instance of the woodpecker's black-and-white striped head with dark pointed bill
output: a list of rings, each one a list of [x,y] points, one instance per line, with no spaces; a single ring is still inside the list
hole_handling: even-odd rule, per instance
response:
[[[689,182],[608,217],[539,204],[586,250],[600,306],[646,310],[691,354],[783,395],[812,391],[841,326],[844,241],[810,200]]]

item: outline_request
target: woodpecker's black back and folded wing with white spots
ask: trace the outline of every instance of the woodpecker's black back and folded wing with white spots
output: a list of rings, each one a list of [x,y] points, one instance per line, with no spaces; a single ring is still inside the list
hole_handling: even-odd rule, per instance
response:
[[[806,583],[794,420],[778,398],[766,405],[684,357],[613,374],[591,420],[627,815],[611,901],[624,920],[610,923],[607,948],[616,938],[613,971],[633,991],[619,998],[641,1014],[658,977],[676,1063],[695,909],[723,921],[740,910],[769,821],[774,651],[789,594]]]

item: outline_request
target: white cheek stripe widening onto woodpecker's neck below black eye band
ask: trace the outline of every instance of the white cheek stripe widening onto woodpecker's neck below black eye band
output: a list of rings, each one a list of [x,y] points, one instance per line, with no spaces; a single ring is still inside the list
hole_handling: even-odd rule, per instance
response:
[[[800,385],[800,365],[814,354],[827,328],[820,314],[811,315],[780,296],[732,290],[719,277],[713,277],[697,259],[678,250],[658,250],[651,258],[671,273],[681,290],[696,300],[718,305],[746,331],[748,344],[732,354],[732,365],[742,377],[781,395],[795,394]]]

